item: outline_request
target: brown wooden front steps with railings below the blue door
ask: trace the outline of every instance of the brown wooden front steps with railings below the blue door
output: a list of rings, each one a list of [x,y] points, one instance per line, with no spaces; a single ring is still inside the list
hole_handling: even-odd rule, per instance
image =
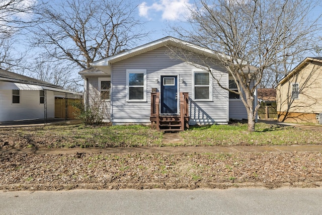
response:
[[[151,127],[154,123],[157,130],[161,131],[184,131],[189,128],[189,108],[188,93],[180,93],[180,112],[179,114],[160,113],[160,93],[151,93]]]

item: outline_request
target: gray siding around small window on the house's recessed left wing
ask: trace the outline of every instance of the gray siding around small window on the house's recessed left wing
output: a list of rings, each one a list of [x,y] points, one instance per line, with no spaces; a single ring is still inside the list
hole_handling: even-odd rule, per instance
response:
[[[99,106],[100,110],[103,113],[103,121],[109,122],[111,118],[111,103],[110,101],[100,101],[100,92],[99,92],[99,78],[110,78],[109,76],[95,76],[88,77],[87,81],[87,102],[91,106]]]

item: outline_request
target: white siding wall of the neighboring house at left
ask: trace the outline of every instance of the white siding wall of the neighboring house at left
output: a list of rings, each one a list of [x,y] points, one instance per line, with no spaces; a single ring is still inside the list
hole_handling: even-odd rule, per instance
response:
[[[0,122],[43,119],[44,104],[38,90],[20,90],[20,104],[12,104],[12,90],[0,90]],[[47,118],[54,118],[54,92],[47,91]]]

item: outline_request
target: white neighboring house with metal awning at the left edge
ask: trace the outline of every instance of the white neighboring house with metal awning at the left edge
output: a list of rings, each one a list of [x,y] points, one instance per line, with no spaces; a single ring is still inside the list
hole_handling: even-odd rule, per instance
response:
[[[78,98],[62,87],[0,69],[0,123],[55,117],[55,98]]]

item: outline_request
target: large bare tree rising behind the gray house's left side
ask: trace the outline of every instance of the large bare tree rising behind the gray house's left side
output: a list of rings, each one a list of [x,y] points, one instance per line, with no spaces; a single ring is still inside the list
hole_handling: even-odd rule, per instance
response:
[[[58,1],[57,1],[58,2]],[[34,29],[33,45],[47,57],[87,68],[147,36],[136,18],[136,6],[121,0],[67,0],[43,4],[43,23]],[[79,69],[78,68],[78,69]]]

